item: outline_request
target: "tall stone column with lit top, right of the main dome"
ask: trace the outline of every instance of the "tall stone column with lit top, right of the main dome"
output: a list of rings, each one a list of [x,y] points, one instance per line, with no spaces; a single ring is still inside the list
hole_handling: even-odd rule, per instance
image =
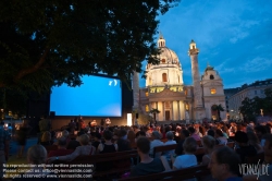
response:
[[[189,44],[188,55],[191,62],[191,75],[193,75],[193,85],[194,85],[194,110],[196,120],[201,120],[206,118],[206,112],[202,102],[202,88],[200,85],[200,76],[198,70],[198,48],[194,40]]]

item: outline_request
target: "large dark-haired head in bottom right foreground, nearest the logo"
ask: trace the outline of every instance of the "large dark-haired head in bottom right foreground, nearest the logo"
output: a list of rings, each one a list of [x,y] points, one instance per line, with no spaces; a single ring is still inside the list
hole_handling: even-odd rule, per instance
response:
[[[239,176],[240,158],[234,149],[224,146],[212,153],[209,168],[214,179],[223,181],[230,177]]]

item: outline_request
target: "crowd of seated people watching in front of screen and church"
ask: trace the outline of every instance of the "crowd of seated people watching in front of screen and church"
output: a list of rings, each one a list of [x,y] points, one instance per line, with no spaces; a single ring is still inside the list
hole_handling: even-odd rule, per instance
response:
[[[74,125],[73,125],[74,126]],[[49,132],[50,133],[50,132]],[[42,138],[45,134],[45,140]],[[41,145],[47,147],[52,145],[52,137],[47,132],[41,136]],[[58,146],[57,150],[51,150],[48,154],[48,162],[54,160],[71,161],[81,155],[95,155],[115,152],[125,152],[131,149],[138,150],[140,162],[131,171],[131,177],[161,172],[160,156],[172,155],[175,157],[170,167],[175,169],[183,169],[186,167],[196,166],[198,164],[207,165],[213,169],[213,165],[219,165],[221,160],[217,154],[220,154],[219,146],[224,147],[228,142],[235,142],[234,148],[224,150],[238,158],[239,164],[246,164],[247,157],[255,157],[258,154],[264,154],[264,161],[272,162],[272,146],[267,135],[271,135],[271,125],[254,125],[245,123],[203,123],[203,124],[162,124],[160,126],[153,125],[133,125],[133,126],[96,126],[86,128],[77,132],[75,138],[72,138],[73,133],[69,130],[62,132],[62,136],[54,143]],[[143,140],[144,137],[144,140]],[[147,144],[149,146],[143,146]],[[267,143],[267,145],[265,145]],[[175,150],[168,150],[165,153],[156,153],[156,146],[163,146],[176,144]],[[267,148],[264,148],[267,146]],[[199,162],[195,156],[196,150],[202,147],[205,154],[201,155]],[[224,153],[222,150],[222,153]],[[213,156],[217,156],[213,159]],[[230,159],[232,159],[230,158]],[[214,160],[214,162],[212,162]],[[217,161],[215,161],[217,160]],[[158,165],[153,170],[148,169],[149,165]],[[233,171],[233,170],[227,170]],[[215,176],[215,172],[211,172]],[[231,174],[230,174],[231,176]],[[233,176],[238,176],[233,172]],[[271,174],[272,176],[272,174]],[[220,180],[220,178],[218,178]],[[271,179],[272,180],[272,179]]]

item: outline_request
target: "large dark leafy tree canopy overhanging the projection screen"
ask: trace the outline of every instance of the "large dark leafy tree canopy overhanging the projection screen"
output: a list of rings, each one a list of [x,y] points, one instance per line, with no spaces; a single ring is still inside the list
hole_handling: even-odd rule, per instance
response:
[[[0,1],[0,87],[44,93],[106,73],[129,80],[158,63],[159,13],[178,0]]]

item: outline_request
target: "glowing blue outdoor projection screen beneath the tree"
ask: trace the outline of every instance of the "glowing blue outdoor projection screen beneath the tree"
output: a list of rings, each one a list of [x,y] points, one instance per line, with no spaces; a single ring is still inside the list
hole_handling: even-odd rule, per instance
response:
[[[122,117],[122,86],[120,80],[106,76],[83,76],[83,84],[53,87],[50,111],[55,116]]]

